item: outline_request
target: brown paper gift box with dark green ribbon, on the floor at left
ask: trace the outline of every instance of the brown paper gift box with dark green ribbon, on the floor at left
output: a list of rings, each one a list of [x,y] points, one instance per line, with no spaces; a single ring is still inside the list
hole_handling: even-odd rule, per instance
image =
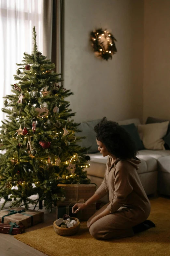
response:
[[[11,214],[12,213],[12,214]],[[9,210],[0,211],[0,223],[9,224],[16,222],[17,225],[23,225],[29,228],[44,221],[44,213],[34,210],[25,210],[23,207],[14,207]]]

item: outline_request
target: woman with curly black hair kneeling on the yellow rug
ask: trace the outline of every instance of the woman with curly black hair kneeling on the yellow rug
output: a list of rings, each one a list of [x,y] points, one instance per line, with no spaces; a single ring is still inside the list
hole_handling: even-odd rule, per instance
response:
[[[76,203],[77,213],[109,194],[109,203],[87,221],[91,235],[96,239],[122,238],[155,227],[147,220],[151,206],[137,169],[141,161],[136,157],[135,143],[118,123],[104,117],[94,127],[100,153],[107,158],[105,178],[94,195],[85,203]],[[75,211],[75,209],[77,209]]]

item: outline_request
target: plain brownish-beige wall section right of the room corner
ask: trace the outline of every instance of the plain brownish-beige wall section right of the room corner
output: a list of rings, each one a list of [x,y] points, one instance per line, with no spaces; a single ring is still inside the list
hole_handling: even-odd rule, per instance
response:
[[[170,119],[170,0],[144,2],[144,109]]]

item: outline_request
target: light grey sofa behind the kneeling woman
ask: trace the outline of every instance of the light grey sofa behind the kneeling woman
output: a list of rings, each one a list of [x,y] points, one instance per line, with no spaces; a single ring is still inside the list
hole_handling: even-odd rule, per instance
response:
[[[87,177],[91,179],[91,183],[95,183],[97,188],[104,179],[108,157],[103,157],[97,152],[98,146],[93,128],[100,120],[101,119],[97,119],[80,124],[79,128],[82,132],[79,136],[86,136],[86,139],[78,143],[81,146],[91,146],[91,151],[87,152],[87,155],[91,158],[88,162],[90,163],[90,167],[84,170],[87,171]],[[141,124],[138,118],[116,122],[118,122],[119,125],[133,123],[136,127]],[[139,155],[137,157],[140,159],[141,163],[139,164],[139,169],[136,171],[147,196],[159,196],[161,194],[170,196],[170,150],[142,149],[138,150],[138,153]],[[105,204],[108,203],[108,195],[101,198],[100,201]]]

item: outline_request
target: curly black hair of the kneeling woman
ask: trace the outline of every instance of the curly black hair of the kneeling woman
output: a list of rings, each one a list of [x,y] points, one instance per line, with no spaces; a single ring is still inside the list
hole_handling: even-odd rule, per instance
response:
[[[107,121],[106,117],[95,125],[96,138],[102,142],[109,153],[116,158],[136,158],[138,151],[129,133],[117,122]]]

